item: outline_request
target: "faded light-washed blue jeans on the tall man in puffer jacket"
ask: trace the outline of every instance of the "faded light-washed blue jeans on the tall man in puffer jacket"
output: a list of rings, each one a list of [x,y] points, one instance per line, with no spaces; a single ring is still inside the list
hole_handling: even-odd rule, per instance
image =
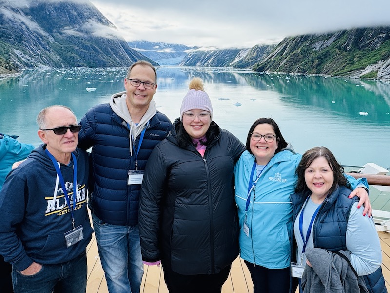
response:
[[[101,266],[110,293],[139,293],[143,263],[138,225],[104,223],[92,214]]]

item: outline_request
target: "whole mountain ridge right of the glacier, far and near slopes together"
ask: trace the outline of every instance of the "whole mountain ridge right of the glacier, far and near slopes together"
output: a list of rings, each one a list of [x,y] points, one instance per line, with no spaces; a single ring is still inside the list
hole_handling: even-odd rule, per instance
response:
[[[186,52],[178,65],[390,79],[390,27],[286,37],[277,45],[249,49],[193,48]]]

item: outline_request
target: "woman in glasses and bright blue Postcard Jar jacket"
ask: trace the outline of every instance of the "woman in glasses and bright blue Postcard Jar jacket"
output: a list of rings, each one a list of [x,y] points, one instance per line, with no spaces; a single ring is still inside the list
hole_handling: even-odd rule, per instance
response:
[[[251,126],[247,150],[235,169],[235,201],[239,218],[240,257],[254,283],[254,293],[290,291],[290,229],[295,169],[301,155],[283,138],[271,118],[259,118]],[[349,197],[360,197],[363,214],[371,215],[363,179],[348,176]]]

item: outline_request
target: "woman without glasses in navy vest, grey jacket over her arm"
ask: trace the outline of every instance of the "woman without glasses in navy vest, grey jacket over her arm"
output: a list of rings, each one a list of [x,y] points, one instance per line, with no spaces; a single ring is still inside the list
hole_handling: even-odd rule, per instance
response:
[[[331,151],[326,147],[309,149],[303,154],[296,174],[296,193],[291,196],[295,240],[292,269],[298,279],[301,277],[298,271],[303,273],[300,290],[317,293],[344,286],[345,292],[359,292],[360,278],[369,292],[387,292],[374,222],[359,212],[357,197],[348,198],[351,186]],[[349,259],[344,267],[339,256],[331,253],[336,251],[344,255],[340,257]],[[348,274],[349,264],[356,275]],[[329,282],[323,283],[324,280]]]

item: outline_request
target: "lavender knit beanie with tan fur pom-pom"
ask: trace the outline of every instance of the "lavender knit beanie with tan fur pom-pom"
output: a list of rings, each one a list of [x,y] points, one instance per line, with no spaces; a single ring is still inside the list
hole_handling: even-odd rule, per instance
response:
[[[190,90],[181,103],[180,121],[183,120],[184,112],[194,109],[210,112],[210,119],[213,120],[213,107],[209,95],[204,91],[202,80],[195,77],[190,81],[188,87]]]

